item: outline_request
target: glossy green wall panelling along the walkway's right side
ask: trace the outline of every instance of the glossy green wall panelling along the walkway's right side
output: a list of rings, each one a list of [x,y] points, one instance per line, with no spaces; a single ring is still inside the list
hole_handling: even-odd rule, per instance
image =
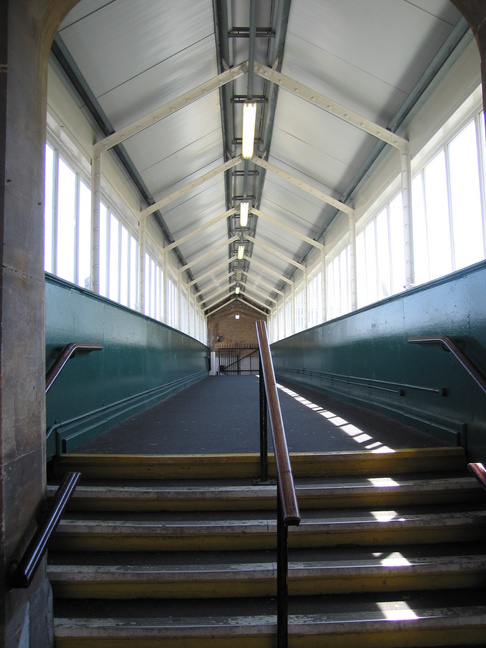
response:
[[[486,375],[486,263],[272,345],[277,377],[371,406],[486,460],[486,394],[441,346],[448,335]]]

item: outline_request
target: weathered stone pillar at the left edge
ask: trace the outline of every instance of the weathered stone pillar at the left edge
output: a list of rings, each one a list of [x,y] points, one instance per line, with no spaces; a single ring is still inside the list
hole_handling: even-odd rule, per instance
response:
[[[47,57],[75,0],[0,0],[0,644],[53,644],[41,565],[7,584],[45,497],[44,146]]]

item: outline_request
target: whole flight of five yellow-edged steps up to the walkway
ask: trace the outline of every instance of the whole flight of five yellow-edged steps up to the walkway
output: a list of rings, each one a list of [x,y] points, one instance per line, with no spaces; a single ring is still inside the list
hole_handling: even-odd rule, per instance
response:
[[[460,448],[291,456],[289,646],[486,645],[486,493]],[[67,455],[55,646],[276,647],[276,493],[256,455]],[[273,466],[271,465],[273,470]]]

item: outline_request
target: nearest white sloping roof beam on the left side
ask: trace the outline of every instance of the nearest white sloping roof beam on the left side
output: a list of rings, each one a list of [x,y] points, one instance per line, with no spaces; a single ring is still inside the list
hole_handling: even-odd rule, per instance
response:
[[[133,135],[136,135],[137,133],[144,130],[145,128],[152,126],[153,124],[161,121],[165,117],[168,117],[169,115],[172,115],[173,113],[177,112],[181,108],[184,108],[184,106],[188,106],[194,101],[201,99],[201,97],[206,96],[209,92],[212,92],[213,90],[217,90],[218,88],[226,85],[230,81],[234,81],[235,79],[242,76],[243,74],[246,74],[247,71],[248,71],[248,61],[245,61],[240,65],[234,68],[230,68],[229,70],[226,70],[221,74],[218,74],[212,79],[209,79],[204,83],[201,83],[201,85],[192,88],[188,92],[185,92],[184,94],[173,99],[172,101],[169,101],[163,106],[156,108],[152,112],[148,113],[147,115],[144,115],[143,117],[140,117],[139,119],[132,122],[131,124],[128,124],[124,128],[121,128],[119,131],[116,131],[116,133],[113,133],[112,135],[108,135],[108,137],[105,137],[99,142],[96,142],[93,145],[93,154],[99,155],[100,153],[103,153],[103,151],[107,151],[108,149],[113,148],[117,144],[121,144],[122,142],[129,139],[130,137],[133,137]]]

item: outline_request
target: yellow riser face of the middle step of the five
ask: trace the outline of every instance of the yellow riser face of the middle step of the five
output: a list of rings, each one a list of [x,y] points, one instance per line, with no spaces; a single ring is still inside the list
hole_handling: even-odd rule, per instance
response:
[[[368,530],[344,530],[342,532],[311,531],[292,533],[290,548],[320,548],[345,545],[393,546],[400,544],[434,544],[447,542],[472,542],[483,540],[486,529],[483,526],[452,526],[415,528],[386,528],[382,525]],[[254,549],[275,549],[276,533],[194,533],[124,535],[119,531],[106,534],[56,534],[49,548],[54,551],[235,551]]]

